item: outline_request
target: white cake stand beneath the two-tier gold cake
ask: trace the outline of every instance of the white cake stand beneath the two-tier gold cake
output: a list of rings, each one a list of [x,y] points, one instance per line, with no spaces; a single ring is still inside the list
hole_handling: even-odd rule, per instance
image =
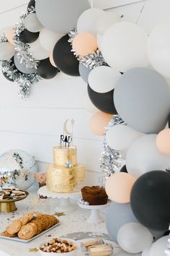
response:
[[[81,192],[73,192],[73,193],[54,193],[48,191],[47,187],[41,187],[38,189],[38,194],[42,195],[43,197],[50,197],[50,198],[58,198],[60,202],[55,208],[56,213],[66,213],[76,210],[76,205],[71,204],[71,199],[77,199]]]

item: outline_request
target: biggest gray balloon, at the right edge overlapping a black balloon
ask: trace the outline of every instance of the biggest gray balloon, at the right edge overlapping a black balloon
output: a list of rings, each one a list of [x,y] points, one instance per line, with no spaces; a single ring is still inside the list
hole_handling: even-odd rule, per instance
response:
[[[147,134],[158,133],[166,126],[170,113],[170,88],[152,69],[130,69],[117,82],[114,103],[130,127]]]

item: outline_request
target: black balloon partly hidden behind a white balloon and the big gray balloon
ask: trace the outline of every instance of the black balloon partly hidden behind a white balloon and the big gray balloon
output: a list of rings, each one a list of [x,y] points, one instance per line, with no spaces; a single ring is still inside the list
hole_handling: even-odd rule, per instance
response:
[[[113,102],[114,90],[110,90],[108,93],[97,93],[88,85],[88,93],[91,102],[100,111],[107,114],[117,114],[115,104]]]

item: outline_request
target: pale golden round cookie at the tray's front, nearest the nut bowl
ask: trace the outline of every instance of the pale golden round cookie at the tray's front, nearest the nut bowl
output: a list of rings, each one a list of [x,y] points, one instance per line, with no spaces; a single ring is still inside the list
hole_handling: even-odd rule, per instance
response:
[[[18,232],[18,237],[23,240],[29,240],[37,234],[37,227],[33,223],[28,223],[22,226],[22,229]]]

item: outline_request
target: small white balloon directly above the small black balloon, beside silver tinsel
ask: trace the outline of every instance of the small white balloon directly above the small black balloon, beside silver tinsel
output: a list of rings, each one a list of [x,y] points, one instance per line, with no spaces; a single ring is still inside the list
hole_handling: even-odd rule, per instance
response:
[[[50,52],[40,46],[40,41],[38,39],[34,43],[30,43],[29,51],[30,54],[32,54],[32,57],[37,60],[47,59],[50,56]]]

